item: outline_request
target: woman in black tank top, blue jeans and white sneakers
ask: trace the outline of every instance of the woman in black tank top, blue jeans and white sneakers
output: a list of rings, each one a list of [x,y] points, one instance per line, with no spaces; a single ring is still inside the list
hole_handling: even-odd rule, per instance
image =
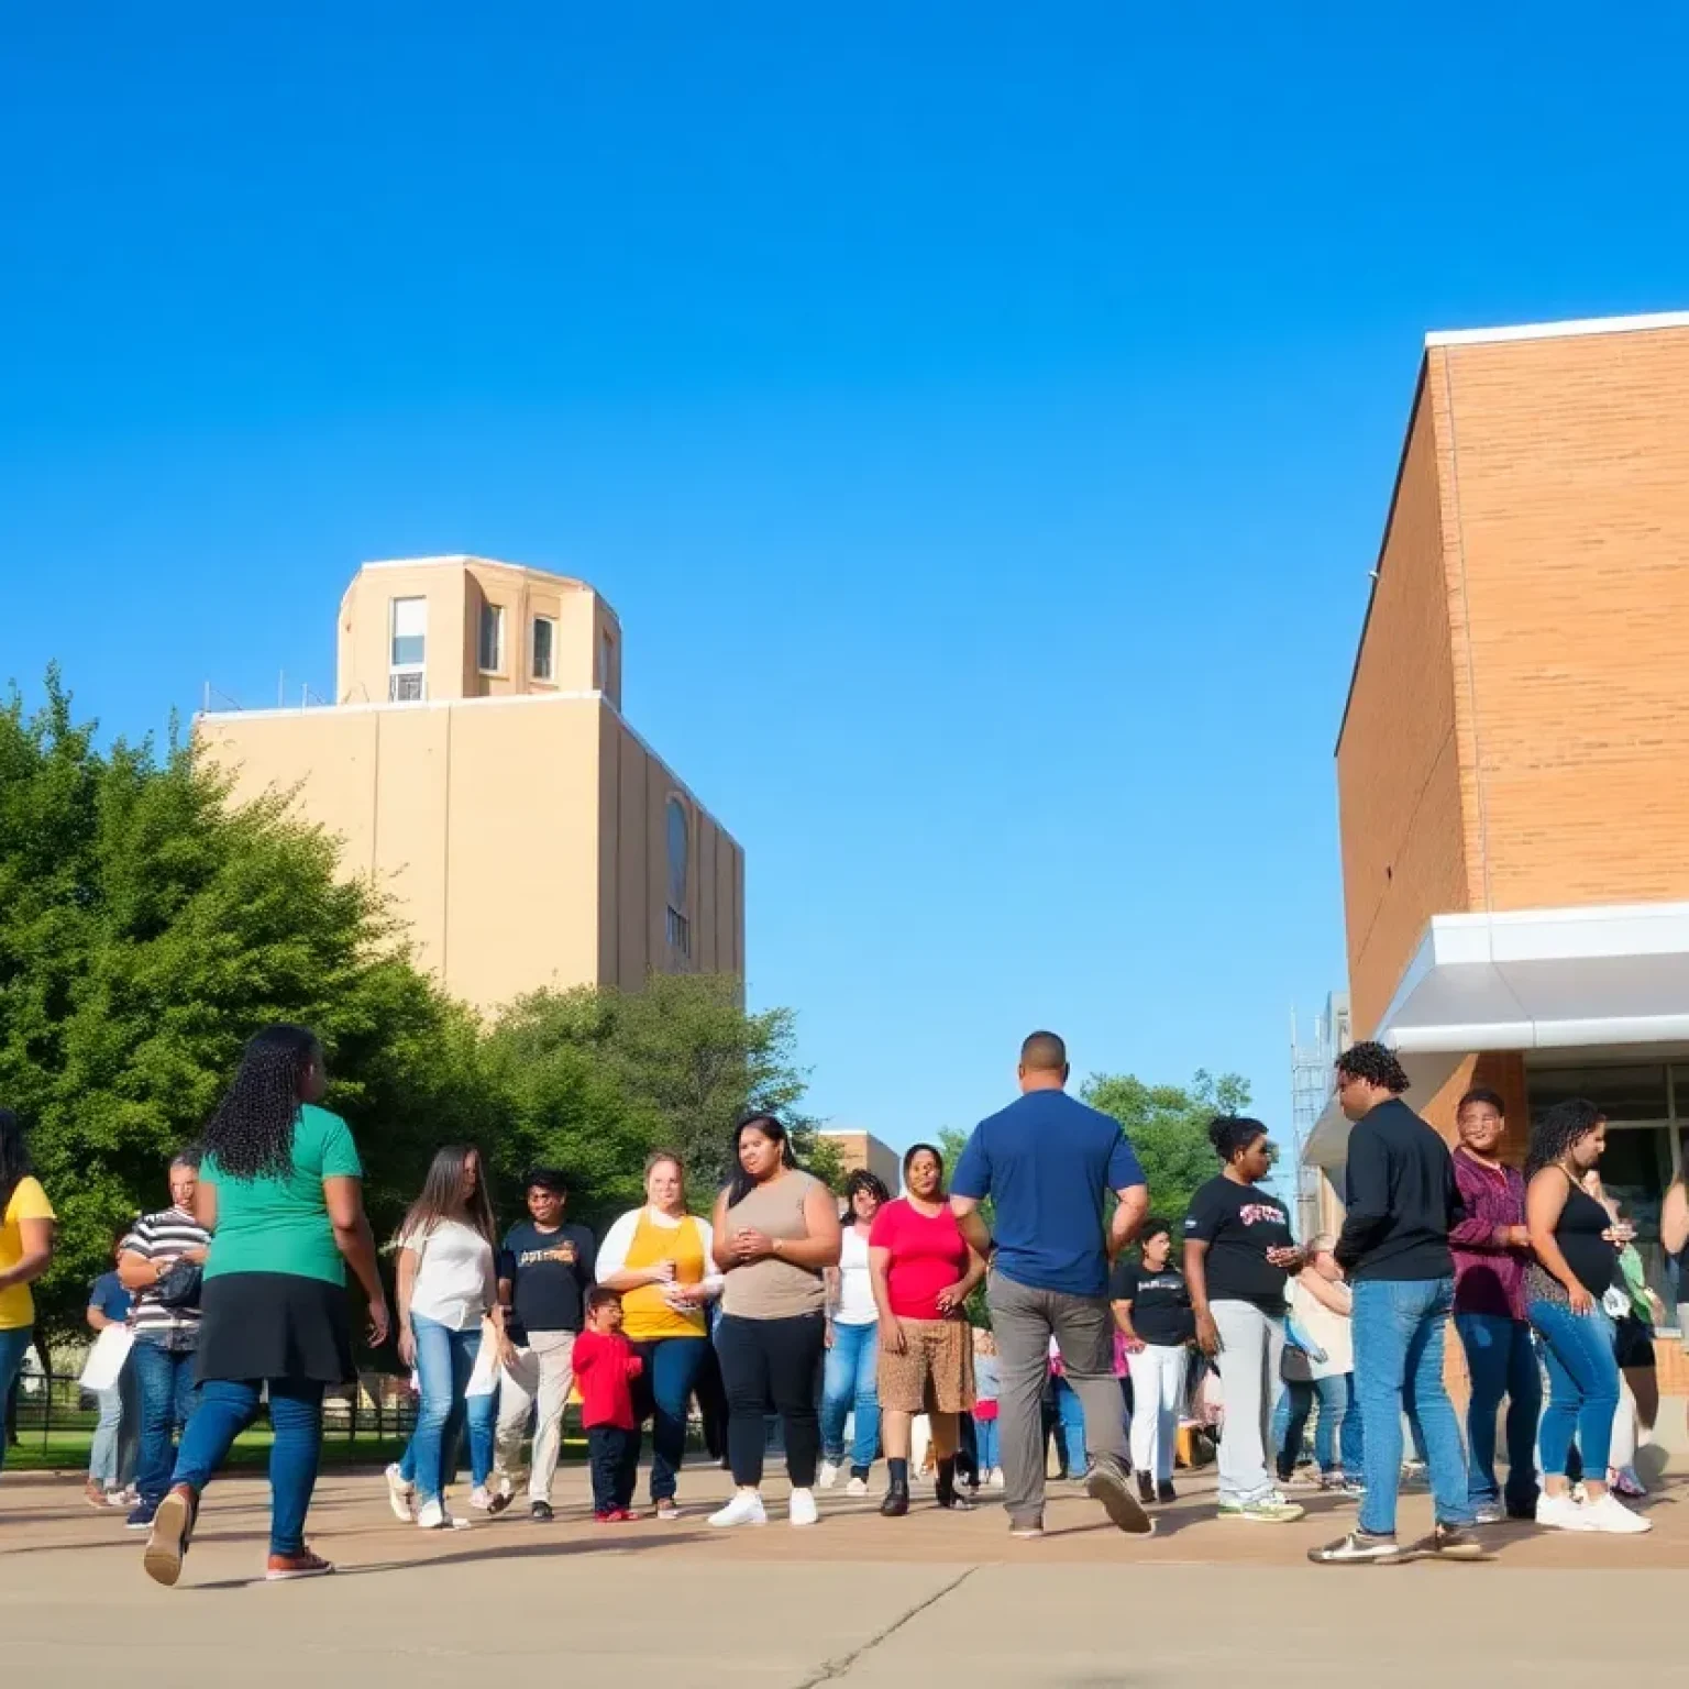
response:
[[[1549,1368],[1539,1451],[1537,1523],[1557,1530],[1638,1535],[1652,1529],[1606,1486],[1618,1407],[1613,1321],[1601,1306],[1618,1270],[1613,1216],[1583,1187],[1606,1149],[1606,1118],[1586,1098],[1542,1111],[1525,1157],[1525,1226],[1535,1260],[1525,1268],[1525,1312]],[[1566,1476],[1572,1437],[1584,1463],[1579,1505]],[[1596,1476],[1599,1474],[1599,1476]]]

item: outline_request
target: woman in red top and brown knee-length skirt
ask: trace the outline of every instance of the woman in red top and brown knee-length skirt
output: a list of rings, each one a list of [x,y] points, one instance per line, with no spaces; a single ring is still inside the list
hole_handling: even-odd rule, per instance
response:
[[[944,1194],[944,1157],[917,1143],[904,1157],[907,1196],[887,1203],[868,1233],[868,1277],[880,1309],[880,1436],[890,1488],[880,1512],[909,1512],[909,1442],[915,1414],[932,1420],[939,1507],[968,1510],[956,1490],[958,1415],[973,1409],[968,1292],[985,1262],[968,1246]]]

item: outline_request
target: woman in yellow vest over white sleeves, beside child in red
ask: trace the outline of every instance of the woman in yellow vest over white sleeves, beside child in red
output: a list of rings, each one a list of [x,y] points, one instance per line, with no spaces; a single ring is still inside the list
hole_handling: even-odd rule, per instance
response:
[[[686,1410],[709,1346],[709,1302],[721,1275],[708,1219],[686,1211],[681,1157],[645,1162],[645,1206],[623,1214],[598,1248],[598,1282],[622,1292],[623,1333],[645,1361],[633,1382],[633,1415],[652,1420],[650,1498],[659,1518],[679,1518],[676,1474],[686,1453]]]

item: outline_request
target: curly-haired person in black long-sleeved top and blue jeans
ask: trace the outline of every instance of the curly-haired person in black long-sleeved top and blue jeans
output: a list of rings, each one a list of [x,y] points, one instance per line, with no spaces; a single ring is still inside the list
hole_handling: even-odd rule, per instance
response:
[[[1449,1147],[1402,1101],[1407,1074],[1382,1044],[1336,1061],[1336,1094],[1355,1121],[1336,1260],[1355,1294],[1355,1390],[1361,1407],[1361,1498],[1356,1529],[1309,1551],[1321,1566],[1412,1559],[1485,1559],[1471,1534],[1466,1449],[1442,1382],[1454,1307],[1449,1230],[1461,1218]],[[1402,1481],[1402,1412],[1426,1442],[1436,1523],[1404,1551],[1395,1539]]]

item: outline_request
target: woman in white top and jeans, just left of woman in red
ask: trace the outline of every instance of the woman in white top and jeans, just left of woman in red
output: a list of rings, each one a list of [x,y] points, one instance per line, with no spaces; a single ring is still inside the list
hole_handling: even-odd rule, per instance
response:
[[[828,1360],[821,1380],[821,1488],[838,1483],[844,1420],[851,1427],[846,1495],[868,1493],[868,1469],[880,1446],[880,1309],[868,1275],[873,1216],[892,1199],[878,1174],[858,1167],[844,1181],[839,1263],[828,1272]]]

